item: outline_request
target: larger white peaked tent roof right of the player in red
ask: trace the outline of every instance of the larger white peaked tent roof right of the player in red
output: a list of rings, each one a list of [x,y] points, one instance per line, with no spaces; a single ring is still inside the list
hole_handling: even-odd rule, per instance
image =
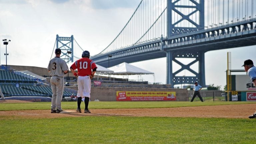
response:
[[[113,70],[116,75],[154,74],[153,72],[138,68],[126,62],[110,67],[109,69]]]

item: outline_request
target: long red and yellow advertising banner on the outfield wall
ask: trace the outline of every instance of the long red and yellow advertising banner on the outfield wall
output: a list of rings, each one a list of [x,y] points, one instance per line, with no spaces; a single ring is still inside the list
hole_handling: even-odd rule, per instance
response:
[[[176,92],[117,91],[116,101],[176,101]]]

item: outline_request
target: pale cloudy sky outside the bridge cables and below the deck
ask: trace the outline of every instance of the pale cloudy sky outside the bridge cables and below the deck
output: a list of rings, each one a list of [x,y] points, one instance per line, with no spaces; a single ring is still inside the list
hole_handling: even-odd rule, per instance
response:
[[[74,35],[83,49],[91,55],[98,54],[117,36],[139,3],[140,0],[0,0],[0,38],[11,40],[7,45],[7,65],[46,68],[57,34]],[[243,69],[246,59],[256,62],[256,46],[206,52],[207,85],[226,85],[227,52],[231,52],[231,69]],[[1,42],[1,65],[6,64],[4,53],[6,47]],[[166,84],[166,58],[131,64],[155,74],[129,79]]]

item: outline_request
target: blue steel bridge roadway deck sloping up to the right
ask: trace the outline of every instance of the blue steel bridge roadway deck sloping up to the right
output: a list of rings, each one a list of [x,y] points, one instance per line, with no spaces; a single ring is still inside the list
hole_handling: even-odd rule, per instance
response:
[[[134,46],[91,56],[97,64],[108,67],[122,62],[132,63],[166,57],[167,51],[187,53],[207,52],[256,45],[256,18],[211,29],[177,34]],[[112,55],[111,58],[108,55]]]

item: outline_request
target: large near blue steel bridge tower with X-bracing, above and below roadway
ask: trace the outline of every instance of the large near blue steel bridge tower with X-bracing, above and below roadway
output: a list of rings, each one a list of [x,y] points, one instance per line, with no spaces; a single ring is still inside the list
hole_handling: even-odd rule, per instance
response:
[[[204,29],[204,0],[167,0],[167,36],[189,33]],[[166,84],[172,87],[176,84],[193,84],[195,81],[201,86],[205,86],[205,51],[194,49],[188,50],[167,50],[167,79]],[[194,61],[185,65],[175,58],[195,58]],[[173,73],[172,61],[181,66],[181,69]],[[199,63],[199,70],[195,72],[190,68],[194,63]],[[188,70],[195,76],[176,76],[179,72]]]

